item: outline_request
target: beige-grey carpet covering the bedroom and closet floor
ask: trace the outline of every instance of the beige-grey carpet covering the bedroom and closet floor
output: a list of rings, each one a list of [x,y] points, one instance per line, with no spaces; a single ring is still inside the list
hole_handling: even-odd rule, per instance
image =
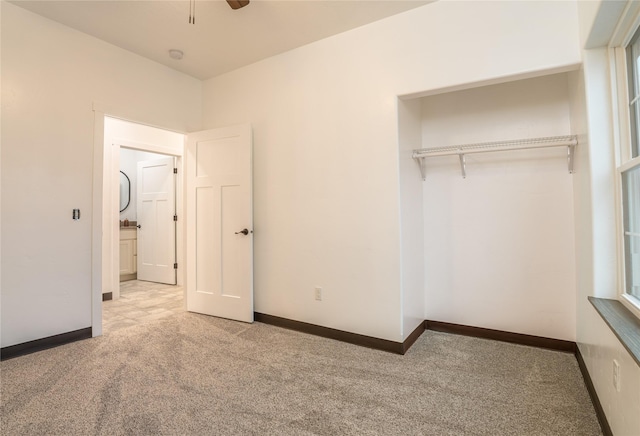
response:
[[[425,332],[405,356],[181,313],[1,363],[3,435],[599,435],[573,355]]]

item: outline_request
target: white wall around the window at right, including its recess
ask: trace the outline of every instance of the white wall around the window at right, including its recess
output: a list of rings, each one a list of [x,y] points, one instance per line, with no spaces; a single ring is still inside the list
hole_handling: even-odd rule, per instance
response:
[[[572,128],[581,147],[574,183],[577,343],[615,435],[640,434],[640,367],[587,298],[617,298],[615,154],[610,64],[606,44],[620,2],[580,2],[584,69],[572,77]],[[595,23],[595,24],[594,24]],[[599,45],[598,45],[599,44]],[[586,102],[586,110],[585,110]],[[621,391],[613,387],[613,360],[620,364]]]

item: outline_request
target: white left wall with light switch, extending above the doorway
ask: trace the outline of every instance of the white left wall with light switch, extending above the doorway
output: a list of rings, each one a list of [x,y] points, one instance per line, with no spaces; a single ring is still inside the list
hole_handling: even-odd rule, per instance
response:
[[[202,88],[13,4],[1,7],[6,347],[92,324],[93,102],[191,131],[201,125]]]

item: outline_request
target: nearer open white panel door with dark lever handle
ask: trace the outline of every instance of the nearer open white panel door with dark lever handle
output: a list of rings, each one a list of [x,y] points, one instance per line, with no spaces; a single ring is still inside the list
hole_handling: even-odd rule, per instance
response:
[[[189,134],[187,310],[253,322],[251,126]]]

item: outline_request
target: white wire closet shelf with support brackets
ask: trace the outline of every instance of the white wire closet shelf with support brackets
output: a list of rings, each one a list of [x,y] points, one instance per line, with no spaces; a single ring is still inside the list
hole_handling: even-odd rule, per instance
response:
[[[467,177],[464,156],[473,153],[491,153],[496,151],[529,150],[532,148],[567,147],[569,173],[573,174],[573,155],[578,145],[576,136],[549,136],[544,138],[516,139],[513,141],[482,142],[477,144],[454,145],[450,147],[421,148],[413,150],[413,158],[420,165],[422,180],[426,179],[425,160],[436,156],[458,156],[462,177]]]

